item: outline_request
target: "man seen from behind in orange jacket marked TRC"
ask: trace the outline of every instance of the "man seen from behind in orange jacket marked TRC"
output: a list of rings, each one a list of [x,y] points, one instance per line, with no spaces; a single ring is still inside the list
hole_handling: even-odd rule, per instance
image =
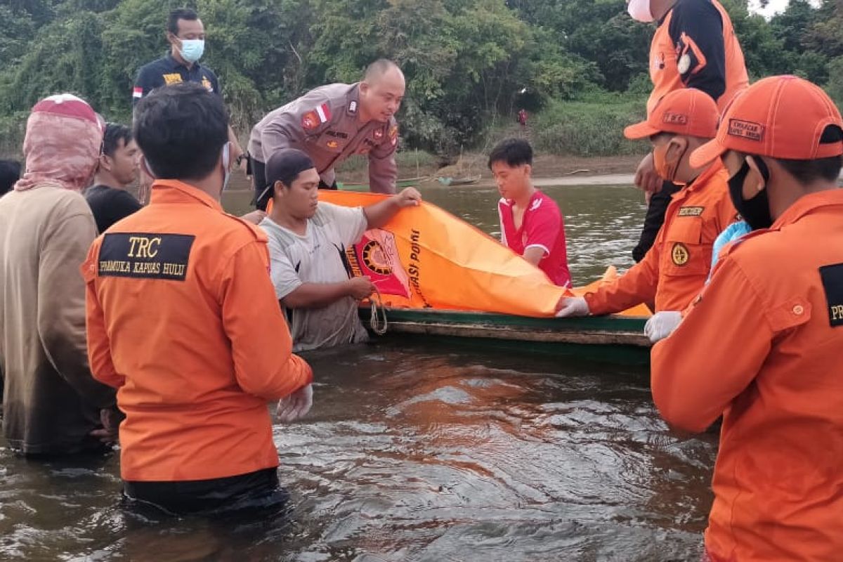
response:
[[[269,277],[266,234],[227,215],[222,99],[197,84],[137,104],[156,181],[149,206],[96,239],[83,265],[91,370],[117,391],[129,500],[170,513],[285,498],[266,403],[309,392]]]

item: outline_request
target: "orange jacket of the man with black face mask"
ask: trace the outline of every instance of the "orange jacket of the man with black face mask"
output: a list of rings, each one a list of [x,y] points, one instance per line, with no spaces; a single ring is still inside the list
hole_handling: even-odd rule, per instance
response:
[[[843,190],[805,195],[723,250],[711,283],[652,351],[665,420],[723,415],[711,559],[843,557]]]

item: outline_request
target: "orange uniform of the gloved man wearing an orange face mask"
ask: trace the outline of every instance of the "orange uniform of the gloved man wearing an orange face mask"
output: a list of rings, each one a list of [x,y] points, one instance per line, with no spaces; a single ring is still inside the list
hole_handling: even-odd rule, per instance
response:
[[[656,312],[682,310],[705,285],[711,246],[737,216],[728,172],[719,159],[673,195],[655,244],[636,265],[585,297],[592,314],[618,313],[642,302]]]

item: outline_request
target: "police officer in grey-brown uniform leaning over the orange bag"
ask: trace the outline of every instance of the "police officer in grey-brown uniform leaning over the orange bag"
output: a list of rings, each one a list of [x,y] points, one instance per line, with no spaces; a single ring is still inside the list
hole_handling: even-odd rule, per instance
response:
[[[252,129],[249,156],[255,201],[268,185],[266,161],[283,148],[307,153],[319,174],[319,188],[336,190],[334,168],[352,154],[368,156],[369,190],[395,193],[398,123],[404,99],[404,73],[381,59],[368,66],[362,81],[316,88],[277,110]]]

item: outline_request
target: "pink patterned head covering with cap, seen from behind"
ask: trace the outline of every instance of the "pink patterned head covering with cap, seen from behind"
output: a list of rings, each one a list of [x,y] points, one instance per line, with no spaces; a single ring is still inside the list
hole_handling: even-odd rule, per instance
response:
[[[40,185],[83,190],[96,171],[102,140],[101,118],[88,102],[72,94],[42,99],[26,121],[26,171],[14,190]]]

